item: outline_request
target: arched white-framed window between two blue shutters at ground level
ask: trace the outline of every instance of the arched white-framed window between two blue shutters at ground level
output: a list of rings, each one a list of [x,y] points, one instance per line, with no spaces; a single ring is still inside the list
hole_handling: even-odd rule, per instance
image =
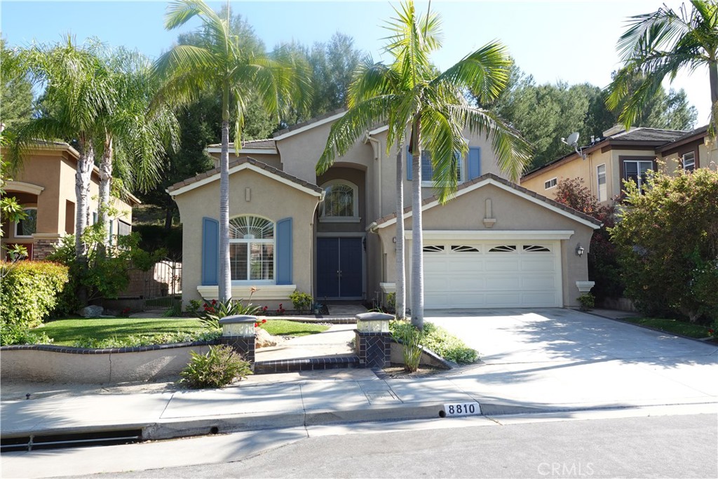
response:
[[[274,223],[259,216],[229,221],[229,258],[233,282],[274,283]]]

